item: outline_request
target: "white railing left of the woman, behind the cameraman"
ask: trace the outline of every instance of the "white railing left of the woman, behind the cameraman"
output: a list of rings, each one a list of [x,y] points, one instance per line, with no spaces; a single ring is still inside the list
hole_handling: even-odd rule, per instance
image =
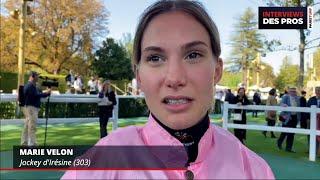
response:
[[[118,128],[118,119],[119,119],[119,99],[124,98],[144,98],[144,96],[116,96],[117,105],[113,108],[112,118],[112,129],[116,130]],[[16,94],[0,94],[0,103],[1,102],[16,102]],[[42,98],[42,102],[46,102],[47,98]],[[50,102],[56,103],[98,103],[98,95],[87,95],[87,94],[60,94],[60,95],[51,95]],[[61,121],[61,119],[69,118],[50,118],[50,120]],[[72,118],[74,119],[74,118]],[[78,120],[84,120],[88,118],[76,118]],[[98,119],[98,117],[92,117],[92,119]],[[22,120],[22,119],[21,119]]]

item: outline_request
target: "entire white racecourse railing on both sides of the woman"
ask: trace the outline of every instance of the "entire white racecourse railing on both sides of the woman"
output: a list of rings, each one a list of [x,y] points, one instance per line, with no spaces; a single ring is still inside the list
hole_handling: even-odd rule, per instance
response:
[[[117,102],[122,98],[144,98],[144,96],[116,96]],[[42,99],[45,102],[47,99]],[[16,102],[16,94],[0,94],[0,103],[1,102]],[[99,98],[97,95],[85,95],[85,94],[60,94],[60,95],[51,95],[50,102],[55,103],[98,103]],[[292,111],[292,112],[305,112],[310,113],[310,129],[299,129],[299,128],[284,128],[276,126],[266,126],[266,125],[253,125],[253,124],[234,124],[229,117],[229,111],[232,109],[246,109],[246,110],[262,110],[262,111]],[[224,129],[228,128],[237,128],[237,129],[248,129],[248,130],[259,130],[259,131],[277,131],[277,132],[287,132],[287,133],[297,133],[310,135],[309,141],[309,160],[316,160],[316,136],[320,136],[320,130],[316,129],[316,116],[317,113],[320,113],[320,108],[316,106],[311,106],[311,108],[304,107],[282,107],[282,106],[265,106],[265,105],[247,105],[239,106],[235,104],[229,104],[228,102],[224,103],[223,106],[223,115],[222,115],[222,127]],[[113,110],[112,120],[112,129],[115,130],[118,128],[118,117],[119,117],[119,103],[115,105]],[[50,118],[51,120],[60,120],[60,119],[74,119],[74,118]],[[79,120],[85,118],[77,118]],[[97,118],[96,118],[97,119]]]

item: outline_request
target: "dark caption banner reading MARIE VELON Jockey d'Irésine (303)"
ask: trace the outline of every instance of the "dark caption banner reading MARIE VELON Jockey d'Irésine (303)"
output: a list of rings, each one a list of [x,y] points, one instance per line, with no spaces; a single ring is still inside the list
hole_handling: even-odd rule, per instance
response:
[[[185,169],[183,146],[46,146],[13,148],[14,169]]]

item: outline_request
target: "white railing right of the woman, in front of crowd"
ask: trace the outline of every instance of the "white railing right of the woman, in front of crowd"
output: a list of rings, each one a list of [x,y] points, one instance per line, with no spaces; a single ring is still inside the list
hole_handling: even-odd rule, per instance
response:
[[[276,127],[276,126],[265,126],[265,125],[251,125],[251,124],[234,124],[229,122],[228,112],[230,109],[245,109],[245,110],[262,110],[262,111],[293,111],[293,112],[305,112],[310,113],[310,129],[299,129],[299,128],[286,128],[286,127]],[[237,128],[237,129],[250,129],[250,130],[261,130],[261,131],[277,131],[277,132],[287,132],[287,133],[297,133],[310,135],[309,144],[309,160],[316,160],[316,136],[320,136],[320,130],[316,129],[316,116],[320,113],[320,108],[316,106],[311,106],[311,108],[303,107],[282,107],[282,106],[257,106],[257,105],[247,105],[239,106],[236,104],[224,103],[223,108],[223,122],[222,126],[224,129]]]

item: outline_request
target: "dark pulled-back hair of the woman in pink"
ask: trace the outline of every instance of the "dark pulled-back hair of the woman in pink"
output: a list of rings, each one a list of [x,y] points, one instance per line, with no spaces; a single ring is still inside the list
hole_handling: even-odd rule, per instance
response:
[[[216,57],[220,56],[221,46],[218,28],[200,2],[187,0],[160,0],[149,6],[140,17],[133,43],[132,65],[134,72],[136,70],[136,65],[140,62],[141,41],[146,27],[156,16],[173,11],[185,12],[199,21],[209,34],[213,55]]]

